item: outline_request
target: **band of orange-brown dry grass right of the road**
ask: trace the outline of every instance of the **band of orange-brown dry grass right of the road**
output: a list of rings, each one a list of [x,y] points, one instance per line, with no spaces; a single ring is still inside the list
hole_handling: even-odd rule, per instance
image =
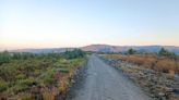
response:
[[[169,73],[170,76],[174,76],[175,73],[179,73],[179,59],[159,58],[155,54],[106,54],[105,57],[109,59],[120,59],[158,72]]]

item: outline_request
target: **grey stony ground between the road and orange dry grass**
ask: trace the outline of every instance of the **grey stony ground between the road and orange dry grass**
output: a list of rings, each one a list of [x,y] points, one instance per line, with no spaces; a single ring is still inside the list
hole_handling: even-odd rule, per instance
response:
[[[105,62],[122,71],[154,100],[179,100],[178,78],[120,60],[105,59]]]

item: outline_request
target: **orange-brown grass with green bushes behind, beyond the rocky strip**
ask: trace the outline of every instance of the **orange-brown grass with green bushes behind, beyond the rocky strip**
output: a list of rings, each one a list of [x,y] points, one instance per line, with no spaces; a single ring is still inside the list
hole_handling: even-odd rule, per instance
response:
[[[106,54],[105,57],[131,62],[163,73],[179,73],[179,57],[164,48],[158,53],[135,53],[130,49],[127,54]]]

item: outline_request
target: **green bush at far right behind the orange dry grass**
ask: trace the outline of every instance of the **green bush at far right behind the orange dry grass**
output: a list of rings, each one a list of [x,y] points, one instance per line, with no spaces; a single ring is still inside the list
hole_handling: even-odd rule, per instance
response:
[[[158,52],[158,55],[160,57],[168,57],[168,58],[176,58],[176,54],[174,52],[169,52],[168,50],[162,48]]]

